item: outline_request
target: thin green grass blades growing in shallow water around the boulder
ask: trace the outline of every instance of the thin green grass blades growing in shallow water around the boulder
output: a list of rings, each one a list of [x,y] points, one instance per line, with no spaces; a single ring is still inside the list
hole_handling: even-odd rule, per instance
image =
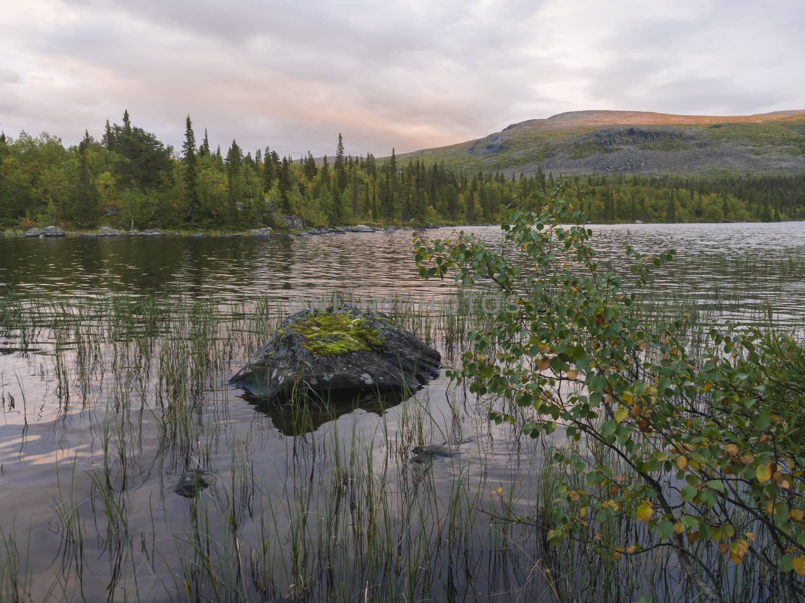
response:
[[[488,325],[471,299],[459,294],[445,310],[399,296],[382,309],[449,361],[470,329]],[[335,300],[378,301],[349,292]],[[312,407],[297,397],[284,415],[293,436],[271,429],[269,416],[244,420],[246,403],[225,379],[286,312],[269,296],[0,297],[0,338],[23,354],[50,354],[43,371],[60,409],[52,418],[84,420],[92,435],[88,455],[60,463],[52,515],[28,532],[56,545],[56,565],[43,568],[30,535],[0,520],[3,601],[688,597],[672,556],[615,560],[608,531],[647,539],[634,525],[547,547],[540,510],[561,483],[584,481],[559,474],[551,446],[582,444],[526,441],[490,425],[488,406],[500,400],[420,392],[311,433]],[[444,454],[412,452],[434,444]],[[181,498],[173,483],[193,469],[217,482]],[[762,596],[762,585],[730,580],[736,601]]]

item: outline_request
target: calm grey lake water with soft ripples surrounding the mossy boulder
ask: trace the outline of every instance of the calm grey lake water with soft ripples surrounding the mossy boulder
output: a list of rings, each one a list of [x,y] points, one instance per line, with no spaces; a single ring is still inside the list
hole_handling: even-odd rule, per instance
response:
[[[675,262],[652,281],[658,301],[748,322],[763,322],[770,304],[778,324],[805,324],[803,223],[592,228],[601,260],[615,270],[626,266],[623,240],[641,252],[676,249]],[[472,230],[501,240],[498,228]],[[22,576],[19,589],[31,601],[549,600],[535,572],[534,539],[490,527],[502,498],[511,496],[522,513],[539,498],[543,444],[490,425],[485,403],[440,377],[385,412],[357,409],[288,435],[283,417],[226,383],[258,345],[227,332],[249,329],[252,299],[279,305],[334,289],[415,298],[452,290],[450,282],[420,280],[410,248],[411,232],[0,239],[0,296],[13,290],[32,310],[63,300],[61,310],[76,313],[26,338],[0,329],[0,574]],[[138,349],[136,336],[118,345],[81,314],[89,300],[154,291],[177,296],[176,307],[207,300],[214,314],[209,333],[221,343],[204,351],[199,387],[181,394],[195,400],[192,425],[187,416],[166,418],[170,386],[160,374],[185,358],[165,343],[170,329]],[[190,341],[201,322],[189,316],[176,338]],[[85,326],[97,338],[84,341]],[[444,454],[412,451],[445,444]],[[194,499],[175,494],[179,475],[196,467],[217,474],[217,485]],[[382,484],[367,486],[369,474]],[[336,507],[334,493],[348,491],[345,507]],[[361,556],[380,550],[356,527],[367,500],[381,504],[372,492],[386,496],[383,533],[397,539],[387,547],[396,551],[395,568]],[[428,505],[434,511],[422,511]],[[474,507],[485,515],[473,515]],[[326,518],[339,514],[345,522],[329,526]],[[443,534],[462,517],[464,531]],[[592,588],[584,576],[574,580]]]

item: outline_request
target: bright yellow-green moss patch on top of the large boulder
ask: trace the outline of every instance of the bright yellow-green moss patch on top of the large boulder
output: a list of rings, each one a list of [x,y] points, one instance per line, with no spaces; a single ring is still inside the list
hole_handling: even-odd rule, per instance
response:
[[[386,339],[363,318],[352,314],[313,314],[291,325],[302,335],[303,347],[317,356],[337,356],[382,347]]]

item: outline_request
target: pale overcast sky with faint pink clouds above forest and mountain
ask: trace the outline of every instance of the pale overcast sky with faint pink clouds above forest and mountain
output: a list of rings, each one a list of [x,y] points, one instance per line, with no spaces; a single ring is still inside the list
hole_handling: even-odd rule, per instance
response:
[[[803,0],[0,0],[0,129],[381,156],[582,109],[805,109]]]

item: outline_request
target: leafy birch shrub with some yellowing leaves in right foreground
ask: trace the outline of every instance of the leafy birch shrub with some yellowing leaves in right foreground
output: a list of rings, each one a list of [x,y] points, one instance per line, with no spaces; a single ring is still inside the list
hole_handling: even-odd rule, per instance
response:
[[[720,600],[717,580],[713,568],[697,566],[697,551],[717,549],[733,564],[750,559],[758,579],[801,600],[802,343],[728,324],[687,349],[690,316],[648,324],[634,311],[650,271],[673,250],[643,256],[625,244],[628,276],[605,272],[586,219],[555,191],[539,212],[506,215],[502,251],[463,232],[415,237],[423,277],[489,282],[518,300],[492,328],[469,334],[461,367],[448,375],[503,403],[492,413],[498,422],[531,437],[564,431],[586,444],[587,453],[571,447],[554,457],[584,474],[586,487],[560,491],[545,518],[553,544],[580,539],[613,559],[672,548],[712,601]],[[649,531],[654,544],[639,540],[637,527],[602,543],[604,527],[624,520]]]

